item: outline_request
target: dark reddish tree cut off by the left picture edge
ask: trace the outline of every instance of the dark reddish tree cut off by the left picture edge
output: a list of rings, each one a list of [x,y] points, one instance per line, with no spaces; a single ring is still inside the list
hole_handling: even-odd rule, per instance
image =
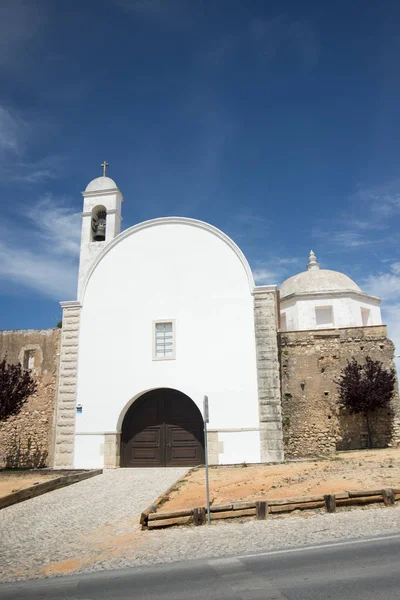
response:
[[[17,415],[29,396],[36,392],[37,383],[20,364],[0,362],[0,422]]]

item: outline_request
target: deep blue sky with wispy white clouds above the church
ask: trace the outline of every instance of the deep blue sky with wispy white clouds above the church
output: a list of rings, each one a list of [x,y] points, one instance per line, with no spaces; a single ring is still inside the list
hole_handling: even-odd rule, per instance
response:
[[[0,328],[75,298],[106,159],[124,228],[208,221],[258,283],[312,248],[383,298],[400,344],[399,28],[385,0],[2,0]]]

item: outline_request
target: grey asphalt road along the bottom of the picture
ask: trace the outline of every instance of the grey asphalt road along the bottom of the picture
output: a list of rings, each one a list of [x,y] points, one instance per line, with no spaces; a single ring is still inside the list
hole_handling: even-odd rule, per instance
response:
[[[0,585],[21,600],[399,600],[400,535]]]

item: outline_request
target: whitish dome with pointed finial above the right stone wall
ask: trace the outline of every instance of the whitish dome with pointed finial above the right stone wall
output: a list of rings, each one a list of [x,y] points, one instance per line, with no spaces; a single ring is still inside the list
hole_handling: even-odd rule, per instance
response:
[[[335,292],[358,292],[361,288],[344,273],[320,269],[311,251],[307,271],[293,275],[280,286],[281,299],[293,294],[320,294]]]

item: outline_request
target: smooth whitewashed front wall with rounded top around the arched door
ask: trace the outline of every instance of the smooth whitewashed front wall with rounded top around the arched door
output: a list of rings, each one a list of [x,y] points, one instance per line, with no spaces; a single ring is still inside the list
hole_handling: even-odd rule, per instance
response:
[[[103,251],[80,298],[76,466],[98,466],[93,434],[120,431],[132,399],[159,387],[200,409],[208,394],[209,427],[225,432],[221,463],[259,460],[253,281],[238,253],[211,226],[174,218],[133,227]],[[176,321],[175,360],[152,359],[159,319]]]

